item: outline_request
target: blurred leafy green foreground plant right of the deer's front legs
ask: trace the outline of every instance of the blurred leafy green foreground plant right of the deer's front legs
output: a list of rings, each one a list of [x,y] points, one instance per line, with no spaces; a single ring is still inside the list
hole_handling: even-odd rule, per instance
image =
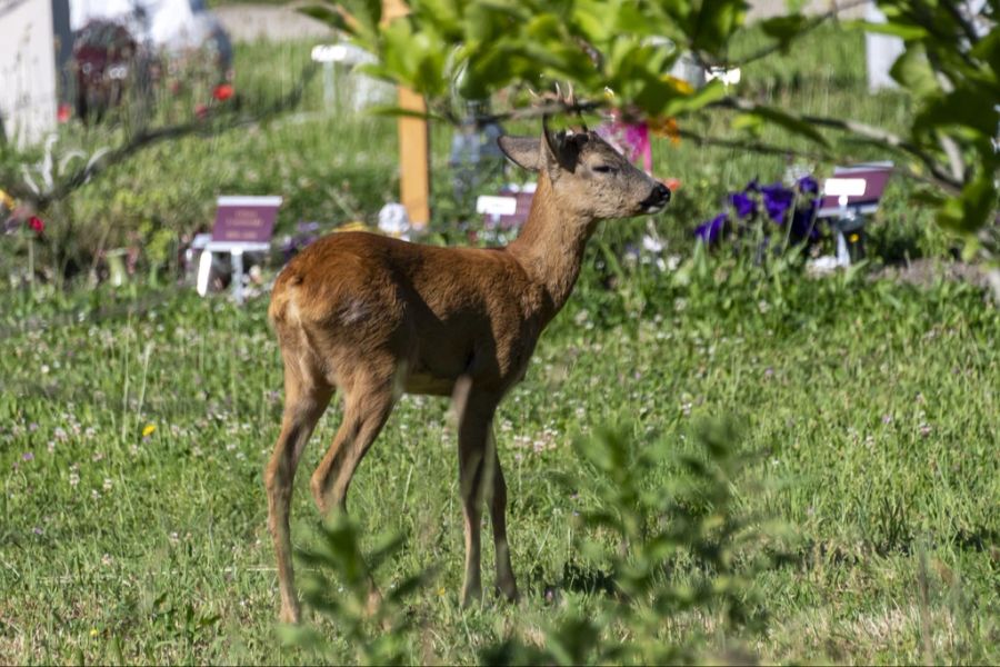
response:
[[[734,482],[749,457],[731,424],[707,422],[696,437],[694,455],[611,430],[577,444],[599,480],[597,507],[580,514],[588,537],[579,551],[611,585],[571,603],[541,646],[512,636],[483,651],[484,663],[690,663],[704,657],[698,639],[708,619],[718,619],[717,635],[764,627],[753,578],[780,556],[761,548],[758,522],[740,509]],[[676,471],[660,478],[666,465]]]

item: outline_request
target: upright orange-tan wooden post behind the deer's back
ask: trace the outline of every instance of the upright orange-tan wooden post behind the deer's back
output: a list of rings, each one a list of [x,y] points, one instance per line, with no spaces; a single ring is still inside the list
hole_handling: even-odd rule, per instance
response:
[[[407,6],[401,0],[382,0],[382,21],[391,21],[407,11]],[[420,113],[427,111],[423,98],[407,88],[399,89],[399,106]],[[398,132],[400,201],[407,207],[410,225],[423,229],[430,221],[430,141],[427,121],[401,116]]]

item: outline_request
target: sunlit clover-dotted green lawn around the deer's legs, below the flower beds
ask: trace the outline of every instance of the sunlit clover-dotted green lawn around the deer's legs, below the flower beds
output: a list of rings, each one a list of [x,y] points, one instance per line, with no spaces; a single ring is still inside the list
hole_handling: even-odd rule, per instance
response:
[[[526,591],[517,608],[457,608],[454,435],[443,401],[401,401],[350,505],[368,534],[408,535],[383,585],[440,568],[408,606],[424,625],[424,653],[412,659],[470,663],[509,628],[530,636],[560,617],[543,589],[578,556],[572,514],[596,501],[573,438],[628,425],[639,447],[666,438],[683,451],[703,416],[744,422],[742,447],[764,452],[747,475],[764,490],[748,494],[746,509],[787,521],[799,556],[758,580],[768,634],[702,629],[707,651],[738,643],[766,660],[1000,658],[1000,315],[951,283],[921,292],[787,276],[779,289],[753,285],[752,271],[710,269],[687,286],[637,273],[617,291],[588,271],[501,407]],[[19,310],[52,318],[112,297],[21,299],[9,300],[7,323]],[[274,635],[261,471],[281,381],[266,302],[161,301],[143,315],[11,332],[3,345],[4,663],[117,651],[127,661],[308,659]],[[317,521],[304,480],[337,417],[328,412],[302,464],[299,544]],[[578,480],[577,495],[559,474]],[[488,551],[487,581],[490,564]]]

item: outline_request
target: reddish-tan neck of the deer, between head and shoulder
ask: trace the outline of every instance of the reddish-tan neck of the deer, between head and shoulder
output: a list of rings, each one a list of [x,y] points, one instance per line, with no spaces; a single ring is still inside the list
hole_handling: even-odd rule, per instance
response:
[[[593,228],[593,220],[562,210],[553,197],[548,175],[539,175],[528,220],[518,238],[508,246],[508,251],[528,277],[544,290],[548,297],[542,308],[546,321],[569,299]]]

